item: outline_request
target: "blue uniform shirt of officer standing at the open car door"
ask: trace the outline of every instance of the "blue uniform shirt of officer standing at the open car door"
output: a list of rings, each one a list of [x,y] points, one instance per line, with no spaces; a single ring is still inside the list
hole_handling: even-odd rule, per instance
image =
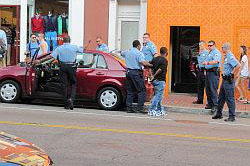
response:
[[[61,62],[73,63],[76,61],[77,53],[83,53],[83,50],[83,47],[64,43],[52,52],[52,57],[57,59],[58,56],[59,61]]]

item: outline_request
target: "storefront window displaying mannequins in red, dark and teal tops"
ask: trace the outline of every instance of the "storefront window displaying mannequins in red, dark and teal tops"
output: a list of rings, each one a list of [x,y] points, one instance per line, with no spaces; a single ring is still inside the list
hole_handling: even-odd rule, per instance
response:
[[[43,33],[48,51],[53,51],[63,44],[63,37],[68,35],[68,0],[36,0],[35,14],[29,18],[31,32]]]

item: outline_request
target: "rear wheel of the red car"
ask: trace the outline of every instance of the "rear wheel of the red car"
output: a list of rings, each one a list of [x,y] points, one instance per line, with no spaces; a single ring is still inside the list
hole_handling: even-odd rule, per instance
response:
[[[101,89],[97,95],[98,104],[102,109],[114,110],[121,106],[121,93],[113,87]]]

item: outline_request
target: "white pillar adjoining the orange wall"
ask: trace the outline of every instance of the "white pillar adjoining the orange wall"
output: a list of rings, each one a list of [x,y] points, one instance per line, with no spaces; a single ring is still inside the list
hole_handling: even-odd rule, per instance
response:
[[[139,39],[142,40],[143,34],[147,32],[147,0],[141,0]]]

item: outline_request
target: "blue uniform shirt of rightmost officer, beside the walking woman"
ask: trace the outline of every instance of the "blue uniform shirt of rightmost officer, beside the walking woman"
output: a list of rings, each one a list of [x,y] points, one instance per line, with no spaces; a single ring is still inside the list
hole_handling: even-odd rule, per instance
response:
[[[235,58],[232,52],[227,53],[224,59],[224,70],[223,74],[228,76],[231,74],[233,69],[239,64],[239,61]]]

